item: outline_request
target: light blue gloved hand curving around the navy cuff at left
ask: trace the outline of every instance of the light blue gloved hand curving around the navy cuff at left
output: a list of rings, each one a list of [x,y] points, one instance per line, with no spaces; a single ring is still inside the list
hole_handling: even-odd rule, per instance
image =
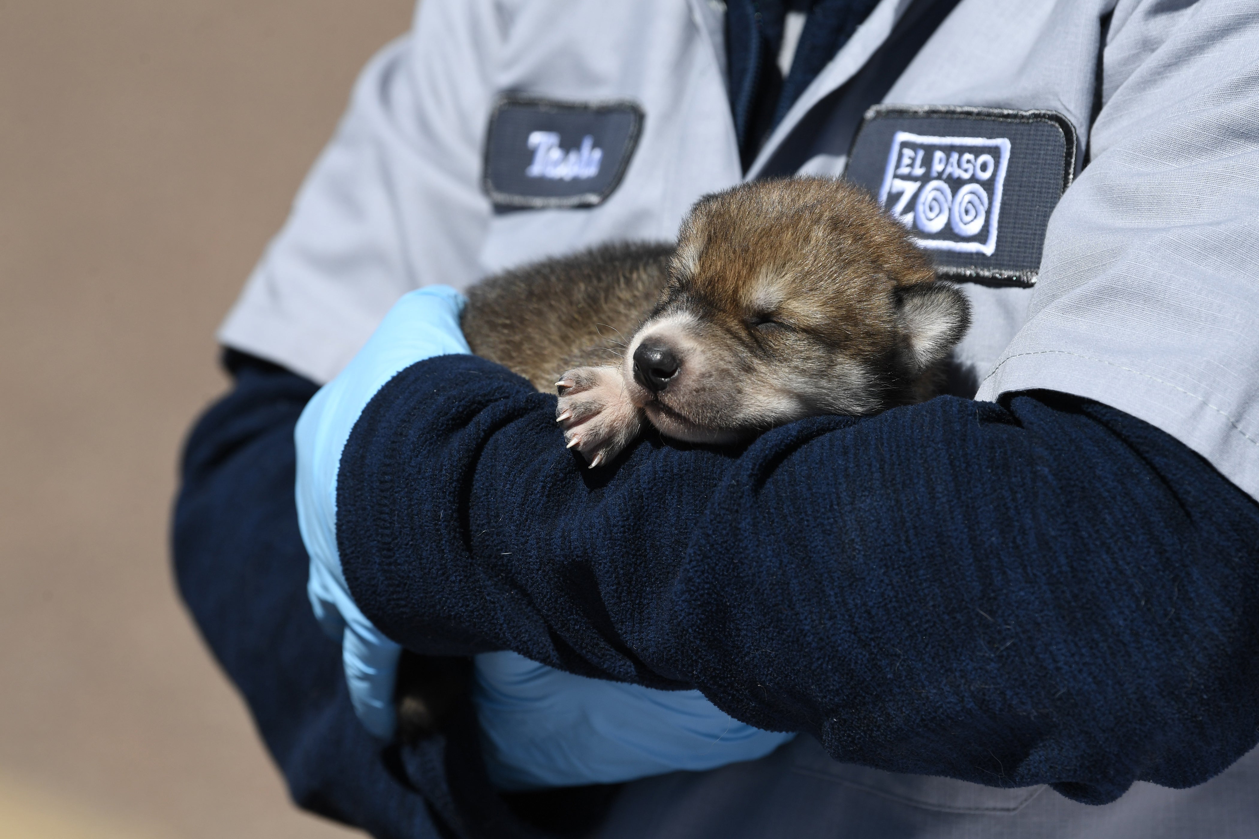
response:
[[[324,631],[341,643],[354,711],[373,735],[393,737],[394,682],[400,648],[359,610],[336,548],[336,473],[363,409],[398,372],[424,358],[467,353],[453,288],[429,286],[403,296],[341,374],[306,405],[297,444],[297,525],[311,557],[306,591]]]

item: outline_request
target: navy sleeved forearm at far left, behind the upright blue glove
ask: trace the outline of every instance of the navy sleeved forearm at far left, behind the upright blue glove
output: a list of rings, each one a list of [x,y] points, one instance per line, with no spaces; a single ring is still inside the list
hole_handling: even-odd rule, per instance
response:
[[[234,386],[184,450],[175,577],[293,800],[381,839],[536,838],[490,787],[466,703],[413,747],[385,747],[355,718],[340,645],[311,614],[293,499],[293,426],[316,385],[239,352],[225,358]]]

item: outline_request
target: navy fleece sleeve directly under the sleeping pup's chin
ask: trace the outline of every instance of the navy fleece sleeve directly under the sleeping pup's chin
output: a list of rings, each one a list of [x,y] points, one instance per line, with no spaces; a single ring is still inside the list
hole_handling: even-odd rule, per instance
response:
[[[697,687],[832,757],[1105,803],[1256,741],[1259,506],[1054,392],[826,416],[582,468],[555,399],[421,362],[341,459],[346,580],[417,650]]]

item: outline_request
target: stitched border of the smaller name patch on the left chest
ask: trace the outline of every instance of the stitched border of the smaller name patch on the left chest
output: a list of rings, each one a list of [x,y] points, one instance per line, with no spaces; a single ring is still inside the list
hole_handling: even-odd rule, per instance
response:
[[[501,189],[501,185],[495,184],[494,179],[494,162],[495,152],[504,151],[495,148],[495,138],[499,137],[496,128],[500,126],[500,119],[504,112],[509,109],[531,109],[539,114],[624,114],[630,118],[628,130],[626,132],[622,147],[619,150],[618,158],[616,161],[616,169],[612,171],[611,179],[597,190],[580,191],[569,195],[525,195],[520,191],[511,191],[509,189]],[[516,93],[506,93],[500,96],[494,104],[494,109],[490,113],[490,123],[486,130],[485,141],[485,153],[482,160],[482,176],[481,185],[485,194],[490,196],[497,208],[510,208],[510,209],[570,209],[570,208],[587,208],[597,206],[602,204],[616,189],[621,185],[621,180],[624,177],[626,169],[630,166],[630,160],[633,157],[633,152],[638,146],[638,138],[642,136],[642,123],[645,119],[645,113],[642,107],[631,99],[604,99],[593,102],[572,102],[560,99],[549,99],[538,96],[524,96]],[[575,151],[575,150],[574,150]],[[602,157],[603,150],[594,148]],[[589,143],[585,143],[582,148],[582,160],[589,156],[590,148]],[[598,164],[596,164],[598,165]]]

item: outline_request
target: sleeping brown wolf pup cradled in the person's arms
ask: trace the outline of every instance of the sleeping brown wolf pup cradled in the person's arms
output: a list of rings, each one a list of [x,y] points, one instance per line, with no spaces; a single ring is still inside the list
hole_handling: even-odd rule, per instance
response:
[[[861,189],[757,181],[701,199],[676,248],[611,245],[486,279],[463,330],[477,355],[554,382],[568,447],[597,467],[645,421],[730,443],[929,399],[969,325],[962,293],[934,279]]]

